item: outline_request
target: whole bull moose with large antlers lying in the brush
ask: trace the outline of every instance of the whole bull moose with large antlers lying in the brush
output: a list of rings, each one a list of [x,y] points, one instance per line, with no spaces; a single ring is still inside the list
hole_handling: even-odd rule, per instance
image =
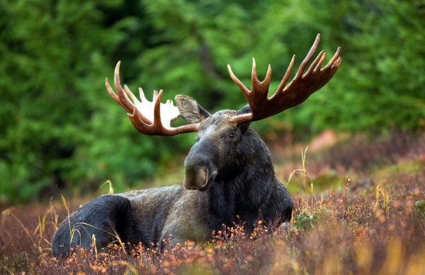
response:
[[[268,98],[271,66],[266,78],[259,81],[253,59],[251,90],[229,74],[242,90],[247,105],[241,110],[220,110],[213,115],[186,95],[177,95],[176,106],[161,103],[162,93],[154,91],[152,102],[141,88],[140,100],[120,84],[120,62],[115,67],[116,94],[106,78],[109,95],[128,112],[132,125],[142,134],[174,136],[197,132],[196,144],[184,161],[183,182],[179,185],[141,189],[122,194],[106,194],[89,201],[61,223],[52,240],[52,253],[66,256],[72,247],[106,247],[116,240],[142,245],[171,245],[186,240],[208,240],[222,226],[243,222],[248,232],[257,221],[278,224],[290,221],[293,202],[288,189],[279,180],[271,153],[250,123],[271,117],[304,102],[322,88],[341,64],[340,47],[321,69],[326,56],[319,52],[307,71],[319,45],[314,44],[292,81],[286,86],[295,55],[276,93]],[[171,127],[178,117],[188,124]],[[77,232],[77,233],[76,233]],[[96,242],[94,242],[94,237]]]

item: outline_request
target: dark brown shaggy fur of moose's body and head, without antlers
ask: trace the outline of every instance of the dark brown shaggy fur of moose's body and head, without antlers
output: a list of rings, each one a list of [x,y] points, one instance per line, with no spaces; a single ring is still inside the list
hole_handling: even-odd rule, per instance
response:
[[[149,246],[161,245],[164,238],[171,238],[172,244],[208,240],[213,230],[234,222],[244,222],[249,232],[259,219],[266,224],[290,220],[293,203],[288,189],[276,179],[266,144],[249,123],[230,122],[229,117],[249,112],[249,107],[209,115],[196,101],[184,100],[196,111],[188,115],[188,105],[179,102],[183,118],[201,121],[197,142],[186,157],[185,177],[191,175],[188,170],[202,168],[208,185],[202,189],[173,185],[98,197],[72,213],[71,226],[68,218],[62,222],[52,240],[54,255],[67,255],[75,245],[89,248],[93,235],[98,249],[105,247],[115,240],[113,232],[123,242]],[[70,227],[79,232],[72,241]]]

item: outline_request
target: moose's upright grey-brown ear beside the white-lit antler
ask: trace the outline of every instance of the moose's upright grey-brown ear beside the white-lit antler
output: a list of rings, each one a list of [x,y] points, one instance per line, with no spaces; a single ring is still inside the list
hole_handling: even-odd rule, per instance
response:
[[[176,105],[181,117],[188,123],[198,123],[210,116],[210,113],[187,95],[176,95]]]

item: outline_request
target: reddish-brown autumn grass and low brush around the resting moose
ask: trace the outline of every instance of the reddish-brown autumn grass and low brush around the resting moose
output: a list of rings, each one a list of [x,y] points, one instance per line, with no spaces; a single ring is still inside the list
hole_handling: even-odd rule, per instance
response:
[[[67,259],[56,259],[50,240],[58,221],[85,201],[73,199],[69,204],[63,198],[46,205],[16,206],[1,216],[0,270],[4,274],[425,274],[422,138],[404,136],[403,140],[409,139],[404,144],[390,136],[368,143],[356,136],[346,141],[355,150],[336,143],[313,155],[304,147],[300,163],[296,150],[295,164],[276,163],[278,175],[288,169],[286,165],[297,165],[280,176],[292,189],[295,204],[289,225],[266,228],[259,222],[254,233],[246,235],[243,225],[235,224],[212,235],[209,242],[186,242],[163,253],[115,242],[97,251],[77,247]],[[390,148],[388,140],[399,148]],[[366,156],[381,155],[367,158],[362,151]],[[341,163],[330,162],[332,156]],[[113,190],[110,183],[109,188]]]

